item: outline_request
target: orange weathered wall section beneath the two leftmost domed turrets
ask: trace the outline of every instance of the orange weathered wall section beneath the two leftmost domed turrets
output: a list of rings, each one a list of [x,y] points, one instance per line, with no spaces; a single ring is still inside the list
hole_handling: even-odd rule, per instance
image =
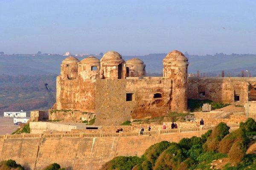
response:
[[[95,113],[95,80],[56,79],[57,110],[79,110]]]

